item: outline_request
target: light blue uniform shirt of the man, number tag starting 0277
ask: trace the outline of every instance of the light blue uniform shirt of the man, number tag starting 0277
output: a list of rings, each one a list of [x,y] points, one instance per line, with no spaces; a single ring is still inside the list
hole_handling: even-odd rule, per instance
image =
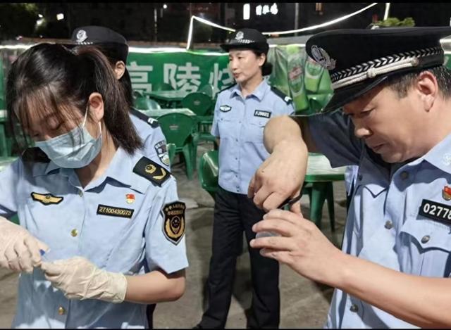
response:
[[[359,165],[342,250],[406,274],[451,274],[451,134],[426,155],[388,164],[354,136],[337,111],[309,118],[319,150],[333,167]],[[412,328],[335,289],[328,328]]]

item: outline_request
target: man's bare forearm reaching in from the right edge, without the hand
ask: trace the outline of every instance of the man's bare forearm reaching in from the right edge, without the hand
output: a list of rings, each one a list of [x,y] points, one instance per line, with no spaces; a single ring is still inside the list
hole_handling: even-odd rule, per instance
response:
[[[451,326],[451,279],[396,272],[351,255],[342,261],[329,285],[416,326]]]

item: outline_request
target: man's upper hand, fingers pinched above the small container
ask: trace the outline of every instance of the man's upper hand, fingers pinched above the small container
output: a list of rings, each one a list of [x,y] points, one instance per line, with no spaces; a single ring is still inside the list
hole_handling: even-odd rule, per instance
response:
[[[252,177],[247,196],[266,211],[298,196],[307,170],[307,157],[307,146],[300,137],[280,141]],[[300,202],[293,204],[291,210],[300,215]]]

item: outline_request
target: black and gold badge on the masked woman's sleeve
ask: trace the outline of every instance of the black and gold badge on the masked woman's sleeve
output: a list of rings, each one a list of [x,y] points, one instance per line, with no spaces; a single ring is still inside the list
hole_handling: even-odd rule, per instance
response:
[[[175,245],[185,234],[185,203],[173,202],[163,206],[163,233],[166,239]]]

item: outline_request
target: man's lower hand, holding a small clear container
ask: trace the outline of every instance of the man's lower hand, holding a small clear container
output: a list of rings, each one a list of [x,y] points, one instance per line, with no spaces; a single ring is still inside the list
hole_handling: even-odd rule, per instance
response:
[[[252,248],[261,248],[261,255],[287,264],[304,277],[333,284],[343,253],[313,222],[284,210],[272,210],[263,219],[252,230],[271,231],[280,236],[253,239]]]

